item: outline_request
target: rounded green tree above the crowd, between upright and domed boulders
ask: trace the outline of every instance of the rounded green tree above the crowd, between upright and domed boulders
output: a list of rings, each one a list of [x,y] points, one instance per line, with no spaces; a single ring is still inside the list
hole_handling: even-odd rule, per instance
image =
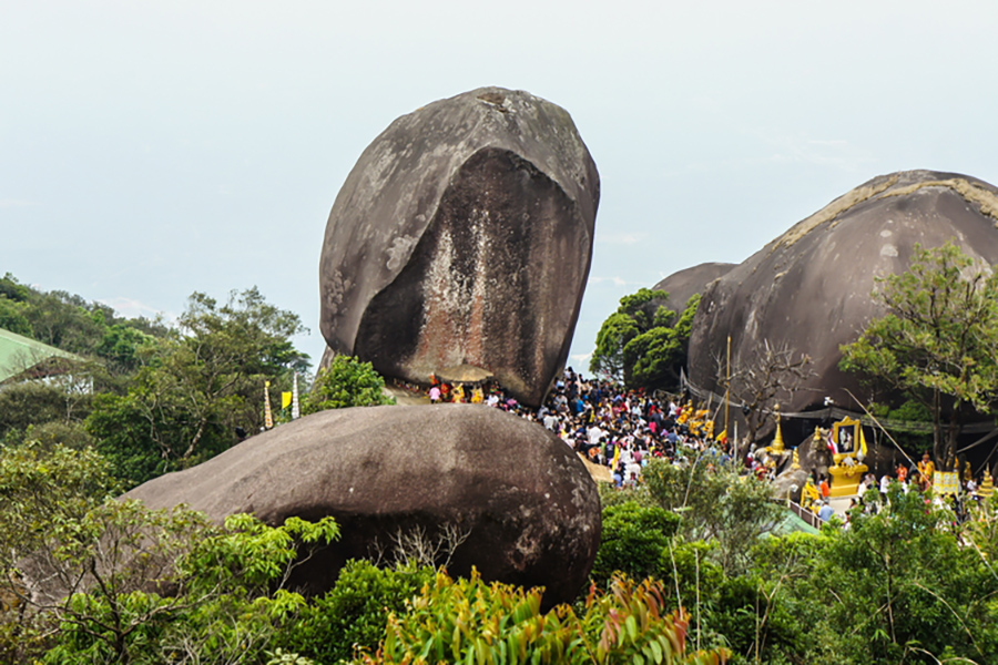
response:
[[[666,291],[642,288],[621,298],[597,334],[590,371],[631,388],[679,385],[700,296],[690,298],[679,316],[659,305],[668,297]]]

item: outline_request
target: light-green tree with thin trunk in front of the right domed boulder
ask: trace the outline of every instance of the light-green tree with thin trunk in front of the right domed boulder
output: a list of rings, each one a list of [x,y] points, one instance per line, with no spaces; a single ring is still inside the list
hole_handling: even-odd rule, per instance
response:
[[[935,457],[950,468],[967,410],[987,412],[998,392],[998,274],[951,243],[916,246],[908,270],[879,279],[873,297],[888,314],[842,347],[842,367],[921,400]]]

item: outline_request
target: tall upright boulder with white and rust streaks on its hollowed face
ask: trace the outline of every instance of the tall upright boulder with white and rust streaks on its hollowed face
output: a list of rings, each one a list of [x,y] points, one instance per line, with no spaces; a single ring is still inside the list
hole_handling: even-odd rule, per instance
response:
[[[538,405],[564,365],[600,181],[571,116],[483,88],[396,120],[326,225],[320,327],[383,375],[490,370]]]

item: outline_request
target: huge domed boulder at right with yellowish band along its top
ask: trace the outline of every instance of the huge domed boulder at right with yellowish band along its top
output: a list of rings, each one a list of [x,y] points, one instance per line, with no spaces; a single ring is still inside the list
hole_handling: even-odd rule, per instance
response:
[[[732,357],[751,358],[763,340],[807,354],[815,376],[785,411],[825,397],[855,408],[854,375],[838,369],[841,345],[856,340],[884,310],[874,279],[908,268],[915,244],[953,239],[975,259],[998,262],[998,190],[951,173],[908,171],[873,178],[763,247],[704,293],[690,338],[690,379],[720,391],[713,354],[732,336]]]

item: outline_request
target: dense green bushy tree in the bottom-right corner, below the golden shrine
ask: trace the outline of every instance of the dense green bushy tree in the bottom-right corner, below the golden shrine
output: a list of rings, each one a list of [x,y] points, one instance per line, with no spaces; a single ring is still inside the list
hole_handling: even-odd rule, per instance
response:
[[[845,663],[994,662],[998,577],[979,551],[961,545],[953,521],[896,483],[879,514],[853,511],[851,528],[827,541],[798,589],[823,607],[828,655]]]

